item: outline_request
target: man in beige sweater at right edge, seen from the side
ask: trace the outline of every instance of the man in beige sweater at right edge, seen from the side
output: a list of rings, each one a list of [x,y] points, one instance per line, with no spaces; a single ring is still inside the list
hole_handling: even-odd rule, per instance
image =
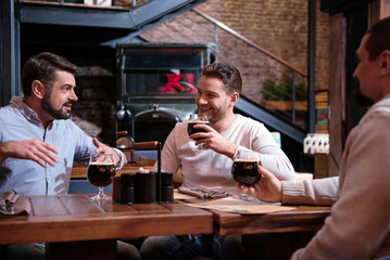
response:
[[[353,74],[375,104],[351,131],[339,178],[280,182],[267,169],[247,188],[265,202],[332,205],[325,225],[292,259],[390,259],[390,17],[374,24]]]

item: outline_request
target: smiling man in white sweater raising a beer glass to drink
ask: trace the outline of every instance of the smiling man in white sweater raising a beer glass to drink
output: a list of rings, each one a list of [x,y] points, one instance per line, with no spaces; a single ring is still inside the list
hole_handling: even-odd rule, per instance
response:
[[[206,66],[198,83],[196,102],[210,126],[196,125],[205,132],[187,133],[188,121],[173,129],[162,150],[162,171],[183,173],[186,187],[221,187],[237,193],[231,176],[234,158],[239,150],[259,154],[264,168],[280,180],[294,180],[294,170],[263,123],[234,113],[242,88],[237,68],[214,63]],[[197,141],[194,141],[197,140]],[[198,147],[202,145],[202,147]],[[235,236],[198,235],[188,237],[148,237],[141,247],[142,259],[190,259],[212,255],[217,259],[240,259],[239,240]]]

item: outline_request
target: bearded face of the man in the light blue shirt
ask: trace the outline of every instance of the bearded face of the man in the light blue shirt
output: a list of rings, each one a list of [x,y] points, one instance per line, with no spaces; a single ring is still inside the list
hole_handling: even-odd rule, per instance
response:
[[[46,86],[47,91],[41,101],[41,107],[53,119],[68,119],[72,105],[77,101],[74,92],[75,77],[64,70],[56,70],[56,77],[51,88]]]

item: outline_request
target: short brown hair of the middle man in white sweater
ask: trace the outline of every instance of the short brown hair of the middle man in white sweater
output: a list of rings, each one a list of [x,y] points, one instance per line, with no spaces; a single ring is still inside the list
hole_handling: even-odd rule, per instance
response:
[[[227,94],[241,93],[242,79],[240,72],[228,63],[210,64],[203,68],[202,76],[221,79]]]

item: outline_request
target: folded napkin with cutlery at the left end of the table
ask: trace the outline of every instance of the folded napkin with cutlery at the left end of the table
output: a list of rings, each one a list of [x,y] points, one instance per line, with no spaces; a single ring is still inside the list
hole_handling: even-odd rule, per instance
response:
[[[32,206],[28,200],[18,199],[18,194],[14,191],[0,194],[0,214],[2,216],[24,216],[28,214]]]

